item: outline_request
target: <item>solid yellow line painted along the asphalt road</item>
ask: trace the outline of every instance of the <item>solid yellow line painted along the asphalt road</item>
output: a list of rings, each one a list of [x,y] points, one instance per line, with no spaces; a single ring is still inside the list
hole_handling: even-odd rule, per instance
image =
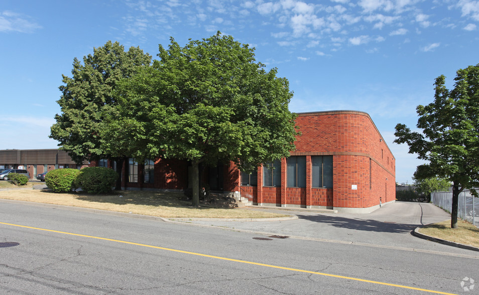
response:
[[[161,249],[161,250],[166,250],[166,251],[173,251],[173,252],[178,252],[178,253],[184,253],[184,254],[190,254],[190,255],[196,255],[196,256],[203,256],[203,257],[208,257],[208,258],[221,259],[221,260],[226,260],[226,261],[234,261],[234,262],[260,265],[260,266],[266,266],[266,267],[272,267],[272,268],[278,268],[278,269],[285,269],[285,270],[291,270],[291,271],[297,271],[297,272],[305,272],[305,273],[312,273],[312,274],[318,274],[318,275],[323,275],[323,276],[344,278],[344,279],[349,279],[349,280],[363,281],[363,282],[369,282],[369,283],[373,283],[373,284],[387,285],[387,286],[393,286],[393,287],[404,288],[404,289],[419,290],[419,291],[424,291],[424,292],[429,292],[429,293],[457,295],[457,294],[454,294],[454,293],[446,293],[446,292],[441,292],[441,291],[422,289],[422,288],[410,287],[410,286],[405,286],[405,285],[391,284],[391,283],[386,283],[386,282],[381,282],[381,281],[374,281],[374,280],[368,280],[368,279],[362,279],[362,278],[356,278],[356,277],[349,277],[349,276],[336,275],[336,274],[323,273],[323,272],[316,272],[316,271],[310,271],[310,270],[304,270],[304,269],[283,267],[283,266],[264,264],[264,263],[246,261],[246,260],[238,260],[238,259],[232,259],[232,258],[226,258],[226,257],[220,257],[220,256],[213,256],[213,255],[207,255],[207,254],[201,254],[201,253],[195,253],[195,252],[189,252],[189,251],[182,251],[182,250],[177,250],[177,249],[170,249],[170,248],[164,248],[164,247],[158,247],[158,246],[152,246],[152,245],[146,245],[146,244],[140,244],[140,243],[134,243],[134,242],[127,242],[127,241],[122,241],[122,240],[115,240],[115,239],[108,239],[108,238],[95,237],[95,236],[89,236],[89,235],[82,235],[82,234],[76,234],[76,233],[70,233],[70,232],[64,232],[64,231],[58,231],[58,230],[44,229],[44,228],[18,225],[18,224],[6,223],[6,222],[0,222],[0,224],[23,227],[23,228],[29,228],[29,229],[36,229],[36,230],[42,230],[42,231],[48,231],[48,232],[54,232],[54,233],[60,233],[60,234],[71,235],[71,236],[92,238],[92,239],[97,239],[97,240],[104,240],[104,241],[117,242],[117,243],[123,243],[123,244],[130,244],[130,245],[136,245],[136,246],[142,246],[142,247],[148,247],[148,248],[154,248],[154,249]]]

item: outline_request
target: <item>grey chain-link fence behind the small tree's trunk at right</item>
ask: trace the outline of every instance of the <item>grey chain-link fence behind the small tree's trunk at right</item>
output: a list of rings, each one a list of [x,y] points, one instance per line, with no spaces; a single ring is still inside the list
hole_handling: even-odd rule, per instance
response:
[[[431,194],[431,202],[451,212],[452,210],[452,192],[436,192]],[[464,190],[459,194],[459,204],[457,206],[457,217],[471,222],[479,227],[479,198],[474,198],[469,190]]]

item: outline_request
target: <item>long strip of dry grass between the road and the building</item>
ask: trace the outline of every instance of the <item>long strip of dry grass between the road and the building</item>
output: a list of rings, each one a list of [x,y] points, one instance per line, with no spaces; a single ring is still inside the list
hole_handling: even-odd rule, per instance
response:
[[[0,191],[0,199],[126,212],[165,218],[274,218],[289,215],[245,209],[191,207],[181,193],[121,191],[110,195],[58,194],[48,190]]]

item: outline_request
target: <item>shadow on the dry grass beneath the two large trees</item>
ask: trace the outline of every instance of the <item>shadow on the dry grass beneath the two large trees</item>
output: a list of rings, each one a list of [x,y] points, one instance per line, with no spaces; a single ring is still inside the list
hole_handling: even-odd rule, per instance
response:
[[[87,202],[109,203],[115,205],[162,206],[185,209],[210,209],[209,207],[193,207],[191,200],[185,200],[183,193],[154,192],[154,191],[113,191],[107,195],[90,195],[82,192],[76,193],[77,200]],[[201,201],[200,201],[200,205]],[[216,207],[214,207],[216,208]],[[228,209],[228,208],[221,208]]]

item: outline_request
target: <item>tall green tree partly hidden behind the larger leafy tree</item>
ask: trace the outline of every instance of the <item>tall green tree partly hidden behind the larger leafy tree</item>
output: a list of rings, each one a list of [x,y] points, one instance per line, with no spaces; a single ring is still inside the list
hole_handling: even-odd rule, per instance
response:
[[[61,149],[80,164],[85,160],[112,159],[116,161],[117,172],[121,174],[125,154],[109,154],[101,147],[100,130],[103,128],[103,114],[114,111],[116,99],[113,91],[118,81],[129,78],[140,66],[148,66],[151,56],[138,47],[125,51],[118,42],[108,41],[93,48],[93,55],[83,57],[83,64],[73,60],[72,77],[62,75],[59,87],[63,95],[58,104],[61,114],[51,127],[50,138],[58,140]],[[116,189],[121,186],[117,182]]]

